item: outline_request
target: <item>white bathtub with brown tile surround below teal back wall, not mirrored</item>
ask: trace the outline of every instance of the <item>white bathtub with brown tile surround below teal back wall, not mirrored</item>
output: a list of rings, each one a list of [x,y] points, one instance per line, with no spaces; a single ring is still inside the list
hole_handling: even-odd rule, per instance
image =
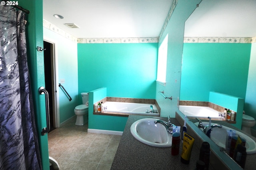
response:
[[[103,104],[103,112],[104,113],[118,112],[118,113],[128,113],[128,114],[159,116],[159,113],[146,113],[146,111],[150,111],[150,106],[153,106],[153,109],[157,110],[155,104],[105,102]]]

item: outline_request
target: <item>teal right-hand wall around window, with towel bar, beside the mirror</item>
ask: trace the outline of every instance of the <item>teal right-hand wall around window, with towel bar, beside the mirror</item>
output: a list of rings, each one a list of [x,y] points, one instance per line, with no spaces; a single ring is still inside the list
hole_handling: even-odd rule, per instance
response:
[[[178,97],[180,96],[180,76],[183,51],[184,23],[201,0],[178,0],[178,4],[160,38],[160,43],[168,34],[166,86],[156,84],[156,100],[161,107],[161,116],[175,117],[178,111]],[[160,44],[159,43],[159,44]],[[164,90],[164,95],[172,96],[172,100],[165,99],[159,91]]]

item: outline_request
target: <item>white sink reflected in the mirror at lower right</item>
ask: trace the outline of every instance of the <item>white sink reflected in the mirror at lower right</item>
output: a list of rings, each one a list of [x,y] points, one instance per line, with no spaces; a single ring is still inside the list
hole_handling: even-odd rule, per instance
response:
[[[202,122],[202,124],[209,125],[209,122]],[[211,123],[213,125],[214,123]],[[195,123],[196,126],[198,126],[198,122]],[[211,139],[216,143],[219,147],[226,148],[226,134],[227,130],[234,130],[230,127],[222,126],[222,128],[213,128],[211,131]],[[243,137],[246,139],[246,152],[247,154],[254,154],[256,153],[256,142],[250,138],[249,136],[245,135],[244,133],[240,131],[236,131],[236,135],[239,135],[240,137]]]

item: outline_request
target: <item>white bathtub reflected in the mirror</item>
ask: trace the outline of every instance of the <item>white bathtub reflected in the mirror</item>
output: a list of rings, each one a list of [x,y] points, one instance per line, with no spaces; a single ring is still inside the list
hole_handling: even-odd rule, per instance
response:
[[[206,106],[180,106],[179,110],[187,117],[200,117],[212,119],[222,119],[219,117],[219,111]]]

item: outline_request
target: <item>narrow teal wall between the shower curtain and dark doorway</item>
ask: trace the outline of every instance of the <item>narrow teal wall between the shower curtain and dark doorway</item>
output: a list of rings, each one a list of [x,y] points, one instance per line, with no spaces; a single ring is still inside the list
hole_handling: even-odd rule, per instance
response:
[[[48,135],[41,135],[42,129],[46,127],[45,95],[38,93],[38,88],[45,86],[44,53],[36,50],[37,46],[43,47],[43,3],[42,0],[19,0],[18,3],[19,6],[30,11],[30,14],[26,14],[28,21],[26,24],[28,67],[42,168],[49,170]]]

